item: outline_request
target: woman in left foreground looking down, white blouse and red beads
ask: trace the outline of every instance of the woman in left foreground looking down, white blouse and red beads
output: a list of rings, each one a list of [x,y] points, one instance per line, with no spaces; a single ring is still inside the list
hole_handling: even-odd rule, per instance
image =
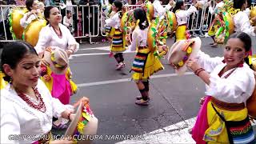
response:
[[[1,143],[46,142],[49,139],[41,136],[50,134],[53,116],[74,118],[71,107],[52,98],[39,80],[40,58],[30,44],[10,43],[2,50],[1,62],[4,79],[9,82],[1,90]]]

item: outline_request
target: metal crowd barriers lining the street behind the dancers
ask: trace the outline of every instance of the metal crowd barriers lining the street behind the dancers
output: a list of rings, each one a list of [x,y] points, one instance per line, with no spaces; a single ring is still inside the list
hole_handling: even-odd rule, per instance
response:
[[[68,6],[72,7],[72,15],[73,15],[73,25],[72,25],[72,30],[74,29],[74,38],[89,38],[90,43],[93,43],[91,41],[91,38],[95,38],[98,36],[106,36],[104,33],[104,25],[105,20],[106,20],[106,15],[105,15],[105,10],[106,10],[107,5],[102,5],[101,7],[98,5],[93,5],[93,6],[82,6],[82,5],[73,5],[73,6]],[[127,10],[134,9],[136,7],[140,7],[141,5],[125,5]],[[186,10],[190,7],[190,4],[185,4]],[[6,6],[6,5],[1,5],[0,6],[0,12],[1,12],[1,17],[2,19],[5,19],[6,15],[3,14],[4,10],[6,8],[10,11],[11,8],[14,7],[25,7],[25,6]],[[64,18],[64,15],[66,15],[66,10],[70,8],[65,8],[61,9],[60,6],[57,6],[60,11],[62,12],[62,17]],[[82,33],[79,33],[78,30],[81,29],[78,24],[78,18],[79,18],[79,13],[81,13],[82,17]],[[188,18],[188,28],[190,31],[207,31],[209,30],[210,23],[214,20],[214,15],[210,16],[210,12],[208,11],[206,13],[206,7],[202,7],[200,10],[200,13],[194,13],[191,14],[190,17]],[[7,18],[8,19],[8,18]],[[6,20],[7,20],[6,19]],[[3,23],[6,22],[6,20],[3,21]],[[8,42],[8,41],[13,41],[14,39],[12,38],[7,38],[6,35],[6,26],[3,24],[0,25],[0,30],[3,30],[3,37],[0,39],[0,42]]]

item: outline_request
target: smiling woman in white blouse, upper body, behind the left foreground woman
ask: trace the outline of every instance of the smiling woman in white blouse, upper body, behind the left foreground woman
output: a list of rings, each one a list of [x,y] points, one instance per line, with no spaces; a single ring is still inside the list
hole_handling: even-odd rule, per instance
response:
[[[44,12],[45,18],[49,24],[42,28],[39,33],[38,43],[34,47],[42,58],[43,51],[48,46],[58,46],[66,51],[66,54],[74,54],[79,48],[70,30],[62,25],[62,15],[57,7],[47,6]]]

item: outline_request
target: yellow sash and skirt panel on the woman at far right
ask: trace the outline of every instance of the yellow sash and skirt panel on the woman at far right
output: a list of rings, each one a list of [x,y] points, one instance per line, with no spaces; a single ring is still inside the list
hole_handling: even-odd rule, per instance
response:
[[[247,117],[248,111],[247,108],[238,111],[228,111],[221,110],[217,106],[214,106],[218,110],[219,114],[222,114],[226,121],[242,121]],[[225,123],[222,122],[222,119],[219,118],[218,114],[214,111],[214,108],[211,106],[211,102],[207,104],[207,118],[209,128],[206,130],[205,138],[210,137],[212,140],[206,140],[208,143],[229,143],[229,138],[226,131]],[[215,134],[211,134],[215,131]]]

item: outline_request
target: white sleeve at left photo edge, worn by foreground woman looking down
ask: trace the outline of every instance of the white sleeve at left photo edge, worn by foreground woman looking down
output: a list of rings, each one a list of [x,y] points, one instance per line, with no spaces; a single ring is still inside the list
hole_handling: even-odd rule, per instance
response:
[[[6,92],[6,91],[5,91]],[[7,92],[6,92],[7,93]],[[1,94],[3,91],[1,90]],[[14,134],[20,134],[20,122],[18,121],[17,110],[14,109],[14,104],[6,101],[1,95],[1,141],[0,143],[19,143],[11,140]]]

